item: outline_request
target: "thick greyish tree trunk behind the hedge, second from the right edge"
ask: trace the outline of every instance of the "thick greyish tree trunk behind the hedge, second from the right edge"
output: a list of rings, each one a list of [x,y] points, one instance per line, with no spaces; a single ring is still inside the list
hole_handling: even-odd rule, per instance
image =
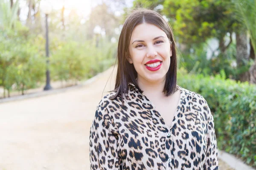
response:
[[[237,68],[246,66],[249,61],[249,54],[247,52],[247,34],[246,32],[236,33],[236,63]],[[246,71],[239,74],[239,80],[241,82],[250,81],[250,73]]]

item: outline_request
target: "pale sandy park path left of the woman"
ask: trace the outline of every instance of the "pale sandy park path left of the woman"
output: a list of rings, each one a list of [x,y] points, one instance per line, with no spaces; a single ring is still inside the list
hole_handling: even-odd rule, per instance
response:
[[[1,103],[0,170],[89,170],[90,126],[112,71],[82,88]]]

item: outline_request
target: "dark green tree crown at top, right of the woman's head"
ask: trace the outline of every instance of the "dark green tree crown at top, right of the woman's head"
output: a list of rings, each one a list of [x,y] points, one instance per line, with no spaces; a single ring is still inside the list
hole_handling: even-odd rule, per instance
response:
[[[233,11],[221,0],[165,0],[163,14],[170,17],[174,33],[186,44],[200,44],[211,37],[222,40],[233,31]]]

